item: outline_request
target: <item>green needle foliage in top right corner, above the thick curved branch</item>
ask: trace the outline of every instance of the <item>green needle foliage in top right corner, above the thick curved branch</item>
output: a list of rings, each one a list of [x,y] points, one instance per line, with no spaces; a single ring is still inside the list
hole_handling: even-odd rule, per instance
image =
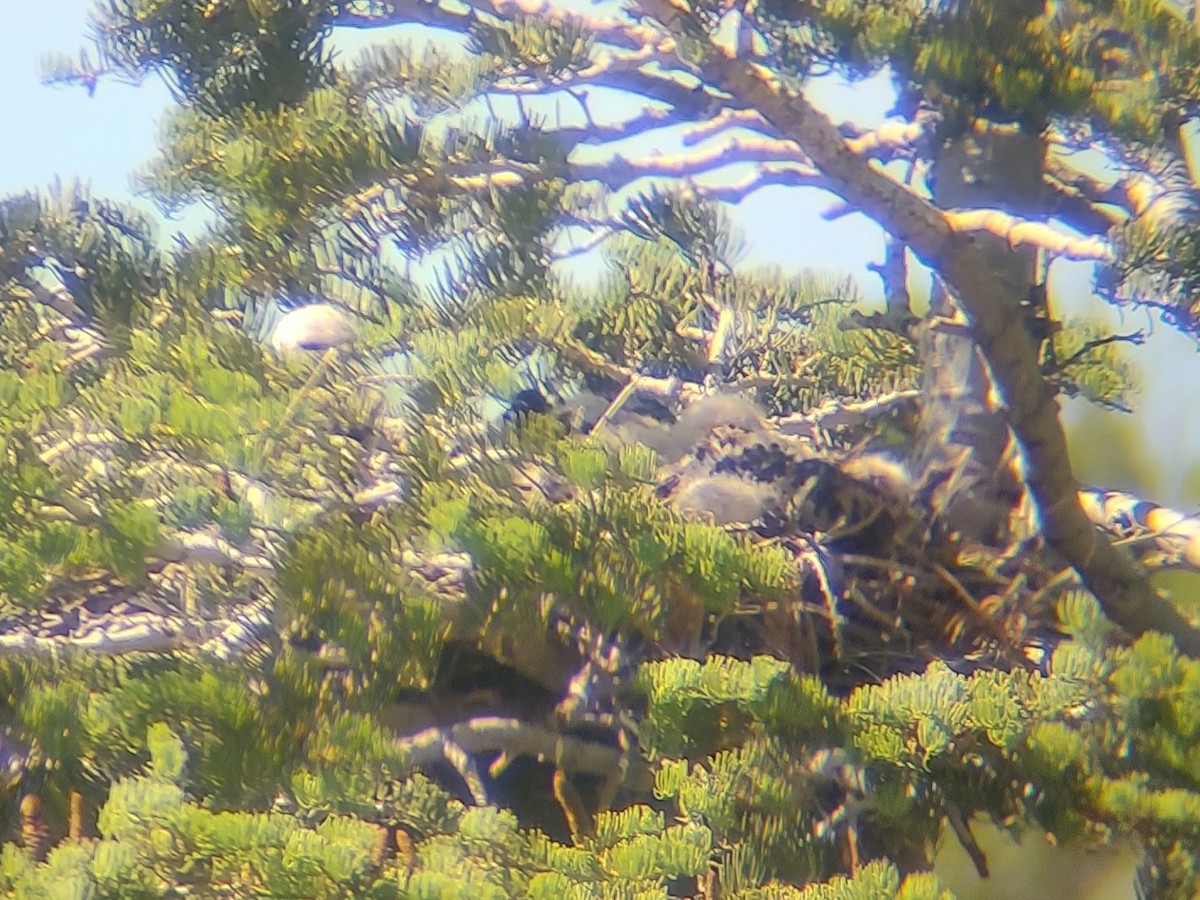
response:
[[[908,88],[947,103],[954,125],[968,110],[1003,110],[1028,122],[1079,115],[1105,130],[1154,134],[1177,104],[1196,97],[1195,31],[1171,5],[1152,0],[836,0],[811,19],[774,0],[758,7],[786,70],[832,62],[856,77],[889,62]]]

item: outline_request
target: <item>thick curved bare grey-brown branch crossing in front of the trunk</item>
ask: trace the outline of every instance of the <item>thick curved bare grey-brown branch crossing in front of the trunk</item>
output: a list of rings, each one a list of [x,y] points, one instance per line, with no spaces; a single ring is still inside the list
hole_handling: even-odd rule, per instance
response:
[[[674,34],[686,32],[686,14],[671,0],[638,0],[638,6]],[[1024,331],[1019,298],[1001,289],[971,235],[955,232],[942,210],[850,152],[834,125],[802,95],[786,91],[768,68],[716,47],[700,68],[707,80],[762,113],[778,133],[797,140],[847,203],[941,272],[962,305],[971,335],[1004,397],[1046,540],[1079,571],[1109,618],[1134,635],[1172,635],[1180,650],[1200,656],[1200,631],[1153,590],[1145,571],[1084,514],[1057,403]]]

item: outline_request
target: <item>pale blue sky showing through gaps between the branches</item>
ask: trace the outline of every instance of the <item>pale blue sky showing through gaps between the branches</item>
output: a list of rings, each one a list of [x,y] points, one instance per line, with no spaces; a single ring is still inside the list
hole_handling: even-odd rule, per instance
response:
[[[152,211],[149,200],[132,196],[131,176],[155,152],[158,126],[170,104],[166,85],[157,78],[138,86],[102,82],[89,97],[83,89],[48,88],[40,80],[48,54],[77,56],[85,46],[91,6],[89,0],[40,0],[14,5],[5,17],[0,30],[0,121],[7,124],[8,137],[0,139],[0,196],[43,188],[55,178],[78,178],[97,196]],[[353,56],[374,37],[352,32],[340,38],[338,47]],[[890,106],[878,79],[854,88],[827,80],[814,89],[814,98],[835,120],[853,119],[864,126],[881,124]],[[824,221],[821,212],[832,202],[818,191],[781,187],[764,188],[743,202],[734,210],[748,238],[743,262],[850,274],[865,298],[878,298],[878,281],[865,266],[881,260],[882,233],[862,215]],[[1200,478],[1189,490],[1183,487],[1184,474],[1200,460],[1200,414],[1184,415],[1181,407],[1187,402],[1181,388],[1200,396],[1200,356],[1194,346],[1141,314],[1129,314],[1122,322],[1091,298],[1086,265],[1058,263],[1052,278],[1060,308],[1106,317],[1123,330],[1152,328],[1151,343],[1134,354],[1144,367],[1145,391],[1133,421],[1156,445],[1150,456],[1162,467],[1146,486],[1163,502],[1200,503]],[[1068,420],[1078,419],[1080,412],[1076,404],[1068,404]],[[1129,418],[1116,416],[1114,424],[1118,422],[1127,424]],[[1090,469],[1105,468],[1080,461],[1084,480],[1096,476]]]

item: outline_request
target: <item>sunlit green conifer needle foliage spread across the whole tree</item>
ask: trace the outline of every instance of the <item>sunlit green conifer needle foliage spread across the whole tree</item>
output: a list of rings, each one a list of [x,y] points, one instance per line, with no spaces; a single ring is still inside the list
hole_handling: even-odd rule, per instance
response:
[[[943,6],[756,14],[785,83],[888,60],[908,92],[941,91],[950,132],[1000,108],[1145,133],[1200,90],[1194,36],[1153,5]],[[847,281],[734,268],[742,238],[695,182],[625,191],[628,161],[580,162],[607,127],[582,92],[583,125],[536,101],[472,119],[605,65],[671,68],[650,96],[708,109],[719,92],[685,70],[724,5],[692,5],[678,68],[614,49],[611,23],[421,10],[466,55],[414,41],[335,65],[336,23],[408,14],[376,4],[114,0],[103,67],[162,71],[180,97],[143,184],[215,223],[168,252],[76,188],[0,204],[0,893],[941,900],[948,817],[1133,836],[1146,884],[1194,889],[1200,667],[1157,635],[1121,646],[1080,592],[1009,616],[1026,581],[1056,596],[1037,548],[988,568],[930,539],[901,559],[880,503],[764,539],[673,512],[647,446],[553,413],[488,420],[530,385],[558,401],[635,374],[750,385],[780,415],[918,384],[907,335],[847,328]],[[1103,31],[1130,22],[1134,59],[1114,61]],[[588,284],[553,265],[572,229],[610,238]],[[1117,239],[1114,292],[1147,277],[1192,322],[1183,229]],[[360,340],[268,350],[275,301],[305,299]],[[1126,402],[1087,326],[1043,361],[1064,391]],[[814,446],[895,448],[906,427]],[[820,474],[804,485],[828,499]],[[852,564],[907,605],[835,594]],[[994,655],[917,641],[943,582]],[[1057,628],[1048,664],[1016,658]],[[845,643],[881,631],[913,640],[902,674],[847,677]]]

